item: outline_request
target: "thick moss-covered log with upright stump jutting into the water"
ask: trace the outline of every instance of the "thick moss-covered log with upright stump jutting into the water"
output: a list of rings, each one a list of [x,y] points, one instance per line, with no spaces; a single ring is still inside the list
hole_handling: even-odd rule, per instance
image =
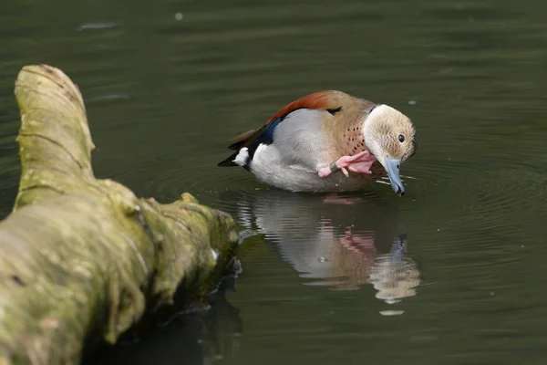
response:
[[[0,223],[0,364],[76,364],[175,297],[202,299],[232,260],[229,214],[190,194],[170,204],[96,179],[79,89],[59,69],[18,74],[22,163]],[[176,296],[175,296],[176,294]]]

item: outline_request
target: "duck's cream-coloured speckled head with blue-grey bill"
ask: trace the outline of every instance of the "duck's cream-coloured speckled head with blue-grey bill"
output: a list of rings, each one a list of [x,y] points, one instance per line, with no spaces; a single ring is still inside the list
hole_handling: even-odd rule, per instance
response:
[[[393,191],[404,195],[399,176],[400,165],[418,150],[418,134],[406,115],[387,105],[377,105],[366,116],[363,126],[365,143],[384,166]]]

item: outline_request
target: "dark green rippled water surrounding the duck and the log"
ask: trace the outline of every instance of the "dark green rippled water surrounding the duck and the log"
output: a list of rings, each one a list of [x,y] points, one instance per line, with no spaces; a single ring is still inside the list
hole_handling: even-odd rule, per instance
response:
[[[191,192],[265,234],[235,292],[91,362],[543,364],[546,15],[542,0],[5,2],[0,212],[15,76],[48,63],[83,92],[98,177]],[[233,134],[320,89],[414,120],[405,197],[281,193],[216,167]]]

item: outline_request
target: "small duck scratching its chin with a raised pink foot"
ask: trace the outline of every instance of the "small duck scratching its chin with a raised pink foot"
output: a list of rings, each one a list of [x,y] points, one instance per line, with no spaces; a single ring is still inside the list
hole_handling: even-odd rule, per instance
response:
[[[387,178],[405,194],[400,166],[418,151],[418,132],[402,112],[339,90],[295,99],[261,127],[230,140],[222,167],[243,167],[294,193],[357,191]]]

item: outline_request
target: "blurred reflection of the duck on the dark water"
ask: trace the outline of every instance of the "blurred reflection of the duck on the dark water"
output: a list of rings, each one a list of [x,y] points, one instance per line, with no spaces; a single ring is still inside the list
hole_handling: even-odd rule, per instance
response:
[[[419,271],[407,255],[397,210],[366,197],[262,191],[222,196],[248,229],[274,243],[305,285],[355,290],[366,284],[395,303],[416,295]],[[237,202],[237,203],[233,203]]]

